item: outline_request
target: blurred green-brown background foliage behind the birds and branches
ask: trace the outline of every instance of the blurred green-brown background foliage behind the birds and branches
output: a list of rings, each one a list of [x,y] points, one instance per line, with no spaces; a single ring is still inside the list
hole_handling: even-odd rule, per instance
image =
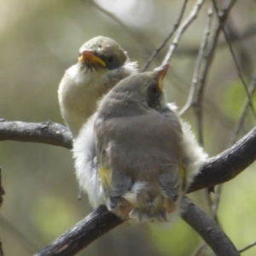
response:
[[[223,3],[223,1],[218,1]],[[103,14],[90,1],[1,0],[0,2],[0,117],[63,124],[57,102],[61,77],[77,60],[78,49],[97,35],[114,38],[140,67],[161,44],[177,19],[183,1],[98,0],[128,28]],[[185,17],[195,1],[189,1]],[[168,73],[168,100],[183,107],[189,95],[195,59],[201,42],[206,1],[197,20],[185,32]],[[241,36],[234,43],[242,73],[249,81],[255,68],[255,36],[242,38],[255,26],[256,3],[237,1],[229,26]],[[216,22],[214,23],[216,24]],[[255,27],[254,27],[255,29]],[[149,68],[157,67],[166,49]],[[210,155],[230,147],[236,121],[246,100],[237,79],[230,50],[220,38],[207,79],[204,97],[205,147]],[[255,102],[255,96],[253,97]],[[184,115],[197,132],[192,109]],[[255,125],[250,115],[239,134]],[[73,174],[72,154],[65,148],[42,144],[2,142],[0,166],[6,190],[1,207],[0,237],[6,255],[32,255],[64,230],[90,213],[86,195],[77,201],[78,185]],[[255,240],[255,164],[224,184],[218,218],[237,247]],[[202,192],[191,195],[207,212]],[[172,230],[146,224],[123,224],[102,236],[79,255],[191,255],[201,238],[182,220]],[[253,256],[256,248],[242,255]]]

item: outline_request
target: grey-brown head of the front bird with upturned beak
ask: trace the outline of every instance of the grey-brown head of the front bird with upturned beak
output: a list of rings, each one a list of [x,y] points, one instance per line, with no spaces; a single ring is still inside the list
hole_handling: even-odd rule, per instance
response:
[[[102,99],[99,112],[102,116],[117,117],[144,114],[148,110],[166,109],[163,79],[169,64],[121,80]],[[150,111],[151,111],[150,110]]]

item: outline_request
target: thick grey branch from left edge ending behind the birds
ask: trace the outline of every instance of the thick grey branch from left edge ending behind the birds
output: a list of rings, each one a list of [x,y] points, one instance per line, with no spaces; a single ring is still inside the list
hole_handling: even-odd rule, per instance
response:
[[[45,143],[72,148],[73,137],[67,127],[52,122],[25,123],[0,119],[0,142]]]

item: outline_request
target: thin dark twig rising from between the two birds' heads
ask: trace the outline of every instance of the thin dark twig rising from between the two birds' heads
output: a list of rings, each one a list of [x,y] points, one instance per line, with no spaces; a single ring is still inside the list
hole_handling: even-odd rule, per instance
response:
[[[172,38],[172,35],[174,32],[177,31],[177,28],[180,24],[180,21],[183,19],[183,14],[185,12],[185,9],[186,9],[186,6],[187,6],[187,3],[188,3],[188,0],[184,0],[184,3],[183,3],[183,7],[182,7],[182,10],[181,12],[179,12],[179,15],[177,17],[177,20],[175,22],[175,24],[172,26],[172,31],[168,34],[168,36],[164,39],[164,41],[162,42],[162,44],[160,44],[159,47],[157,47],[156,49],[154,49],[154,52],[153,54],[148,58],[148,61],[146,62],[146,64],[144,65],[143,69],[142,69],[142,72],[144,72],[148,66],[150,65],[150,63],[154,60],[154,57],[156,55],[158,55],[158,53],[160,52],[161,49],[163,49],[166,44],[168,43],[168,41],[170,40],[170,38]]]

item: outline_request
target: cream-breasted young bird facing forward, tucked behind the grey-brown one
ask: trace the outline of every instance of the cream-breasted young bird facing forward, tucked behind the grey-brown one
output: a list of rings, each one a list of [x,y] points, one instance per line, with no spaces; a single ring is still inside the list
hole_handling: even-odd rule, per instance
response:
[[[58,90],[61,115],[77,137],[96,102],[121,79],[137,73],[124,49],[113,39],[96,37],[79,49],[79,61],[68,68]]]

